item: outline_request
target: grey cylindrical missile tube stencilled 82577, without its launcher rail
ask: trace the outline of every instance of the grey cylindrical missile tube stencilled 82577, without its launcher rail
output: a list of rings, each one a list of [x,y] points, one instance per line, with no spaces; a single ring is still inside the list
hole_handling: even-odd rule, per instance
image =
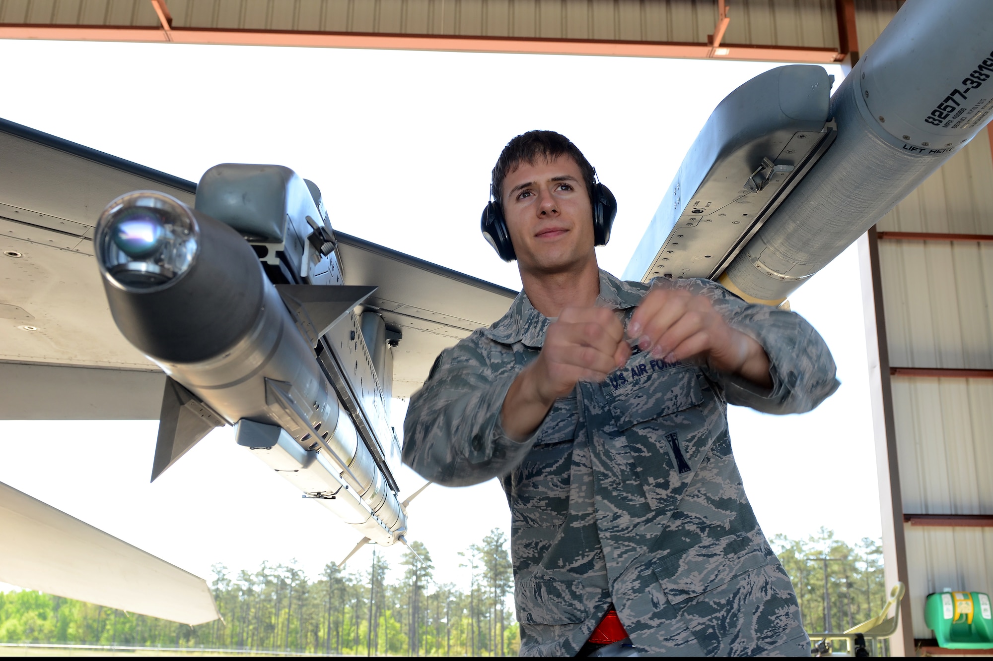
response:
[[[993,110],[993,2],[909,0],[831,98],[838,138],[721,276],[778,305],[975,137]]]

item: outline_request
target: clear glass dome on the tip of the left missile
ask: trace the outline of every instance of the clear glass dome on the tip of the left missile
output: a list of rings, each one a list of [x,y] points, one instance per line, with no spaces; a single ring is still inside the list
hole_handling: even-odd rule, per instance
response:
[[[199,233],[194,212],[179,199],[137,191],[107,205],[93,243],[109,282],[125,291],[150,292],[190,270]]]

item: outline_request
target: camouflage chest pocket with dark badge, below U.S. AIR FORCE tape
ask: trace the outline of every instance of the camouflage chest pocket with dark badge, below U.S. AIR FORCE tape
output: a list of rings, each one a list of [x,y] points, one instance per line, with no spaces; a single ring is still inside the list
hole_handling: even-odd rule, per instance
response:
[[[711,434],[698,370],[638,357],[625,368],[626,382],[605,395],[648,505],[658,509],[673,505],[682,495],[706,454]]]

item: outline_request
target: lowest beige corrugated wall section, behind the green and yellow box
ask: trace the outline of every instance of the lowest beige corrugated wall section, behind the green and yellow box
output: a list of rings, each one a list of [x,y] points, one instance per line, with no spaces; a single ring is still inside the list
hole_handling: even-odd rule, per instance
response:
[[[915,638],[931,638],[924,623],[923,597],[953,591],[993,591],[993,529],[907,527],[908,591]]]

